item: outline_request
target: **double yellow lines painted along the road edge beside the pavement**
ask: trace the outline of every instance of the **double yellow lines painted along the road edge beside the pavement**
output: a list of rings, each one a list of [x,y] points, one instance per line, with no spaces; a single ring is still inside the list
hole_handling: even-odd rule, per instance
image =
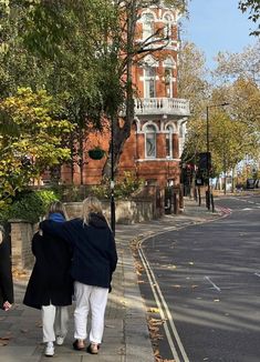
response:
[[[149,238],[146,238],[146,239],[149,239]],[[180,338],[179,338],[178,332],[176,330],[175,323],[173,321],[173,316],[171,316],[171,314],[169,312],[168,305],[167,305],[167,303],[166,303],[166,301],[164,299],[164,295],[163,295],[163,293],[160,291],[160,288],[159,288],[158,283],[156,281],[156,278],[155,278],[155,275],[153,273],[153,270],[150,269],[149,263],[148,263],[148,261],[147,261],[147,259],[146,259],[146,257],[144,254],[144,251],[142,249],[142,243],[146,239],[142,240],[138,243],[138,253],[139,253],[142,262],[143,262],[143,265],[144,265],[144,268],[146,270],[146,274],[148,276],[149,284],[150,284],[155,301],[156,301],[156,303],[158,305],[158,309],[159,309],[159,314],[160,314],[162,319],[165,320],[165,323],[163,325],[164,325],[164,329],[165,329],[165,333],[166,333],[170,350],[173,352],[173,356],[174,356],[176,362],[180,362],[180,361],[189,362],[189,359],[188,359],[188,356],[187,356],[187,354],[185,352],[184,345],[183,345],[183,343],[180,341]],[[171,333],[169,331],[169,328],[173,331]],[[176,349],[175,343],[173,341],[171,334],[174,334],[176,344],[177,344],[177,346],[179,349],[179,353],[177,352],[177,349]]]

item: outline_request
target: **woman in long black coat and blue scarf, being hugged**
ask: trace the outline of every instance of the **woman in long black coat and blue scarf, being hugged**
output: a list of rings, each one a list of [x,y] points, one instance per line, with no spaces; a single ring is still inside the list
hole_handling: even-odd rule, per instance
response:
[[[66,213],[63,204],[51,204],[46,223],[51,220],[64,223]],[[30,276],[23,303],[42,310],[43,342],[45,355],[54,354],[53,342],[62,344],[67,332],[67,305],[72,304],[73,281],[70,274],[72,252],[62,239],[37,232],[32,239],[35,264]]]

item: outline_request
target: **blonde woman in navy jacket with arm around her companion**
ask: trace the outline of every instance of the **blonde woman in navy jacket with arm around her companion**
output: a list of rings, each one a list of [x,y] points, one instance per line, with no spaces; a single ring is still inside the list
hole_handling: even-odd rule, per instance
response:
[[[73,248],[71,275],[74,282],[75,350],[84,349],[87,314],[91,310],[91,344],[87,352],[96,354],[104,331],[104,315],[112,274],[117,263],[117,253],[113,233],[102,212],[100,201],[89,197],[83,201],[82,219],[65,223],[43,221],[40,224],[45,232],[67,240]]]

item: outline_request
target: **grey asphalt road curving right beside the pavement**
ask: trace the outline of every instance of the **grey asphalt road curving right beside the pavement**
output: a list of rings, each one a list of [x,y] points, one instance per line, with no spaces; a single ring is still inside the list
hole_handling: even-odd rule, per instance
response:
[[[259,362],[260,195],[216,204],[230,214],[143,243],[149,281],[143,276],[142,293],[163,310],[164,359]]]

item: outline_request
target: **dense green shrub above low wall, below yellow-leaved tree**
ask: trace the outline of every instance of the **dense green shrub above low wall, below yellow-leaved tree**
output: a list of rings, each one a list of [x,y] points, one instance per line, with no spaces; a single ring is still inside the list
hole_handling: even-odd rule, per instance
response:
[[[24,191],[4,211],[2,219],[22,219],[32,223],[38,222],[46,213],[50,203],[55,200],[58,197],[51,190]]]

